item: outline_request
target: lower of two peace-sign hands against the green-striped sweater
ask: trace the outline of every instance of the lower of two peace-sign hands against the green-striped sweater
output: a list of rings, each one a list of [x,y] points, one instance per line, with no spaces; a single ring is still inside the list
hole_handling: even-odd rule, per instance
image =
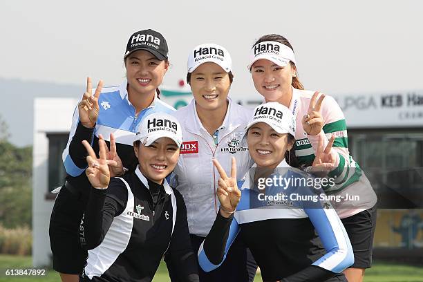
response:
[[[319,145],[317,147],[316,158],[314,158],[312,168],[310,170],[320,177],[326,176],[326,174],[335,167],[337,161],[335,156],[332,154],[332,145],[335,141],[335,135],[330,137],[329,143],[326,145],[324,150],[322,138],[323,137],[319,135]]]

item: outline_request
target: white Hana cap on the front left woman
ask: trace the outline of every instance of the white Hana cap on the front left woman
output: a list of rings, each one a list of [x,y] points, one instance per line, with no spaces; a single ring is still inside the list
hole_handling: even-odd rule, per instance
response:
[[[180,124],[175,117],[167,113],[152,113],[138,126],[134,141],[140,140],[144,146],[150,146],[162,137],[171,138],[180,147],[182,145]]]

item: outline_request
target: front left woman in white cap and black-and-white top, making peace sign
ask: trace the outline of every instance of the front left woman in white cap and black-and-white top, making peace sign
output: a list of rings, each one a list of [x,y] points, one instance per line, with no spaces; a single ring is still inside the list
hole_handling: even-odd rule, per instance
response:
[[[142,121],[133,142],[138,167],[122,178],[110,177],[106,143],[99,142],[97,158],[83,141],[92,187],[82,224],[88,260],[81,281],[152,281],[167,250],[178,278],[198,281],[184,200],[165,179],[182,144],[178,120],[153,113]]]

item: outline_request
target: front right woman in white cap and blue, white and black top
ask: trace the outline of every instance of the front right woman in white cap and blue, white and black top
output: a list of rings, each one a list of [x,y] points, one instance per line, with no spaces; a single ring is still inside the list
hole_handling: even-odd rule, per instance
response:
[[[263,281],[347,281],[342,270],[353,263],[353,250],[320,189],[321,178],[278,167],[284,159],[288,164],[294,161],[289,155],[294,135],[290,109],[277,102],[261,104],[245,133],[257,168],[237,184],[236,160],[229,176],[225,172],[229,170],[214,160],[220,174],[220,211],[198,253],[203,270],[219,267],[235,238],[241,238],[250,247]],[[332,164],[328,153],[332,142],[333,138],[324,150],[319,144],[314,168]]]

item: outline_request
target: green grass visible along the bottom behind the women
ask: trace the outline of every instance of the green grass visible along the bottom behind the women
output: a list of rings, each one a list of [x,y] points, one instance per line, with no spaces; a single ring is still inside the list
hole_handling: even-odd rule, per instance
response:
[[[11,256],[0,254],[0,282],[41,282],[60,281],[59,274],[47,270],[46,276],[6,276],[7,269],[32,268],[30,256]],[[169,276],[164,263],[160,263],[153,282],[167,282]],[[261,281],[256,275],[254,282]],[[366,270],[365,282],[423,282],[423,267],[376,262],[370,270]]]

